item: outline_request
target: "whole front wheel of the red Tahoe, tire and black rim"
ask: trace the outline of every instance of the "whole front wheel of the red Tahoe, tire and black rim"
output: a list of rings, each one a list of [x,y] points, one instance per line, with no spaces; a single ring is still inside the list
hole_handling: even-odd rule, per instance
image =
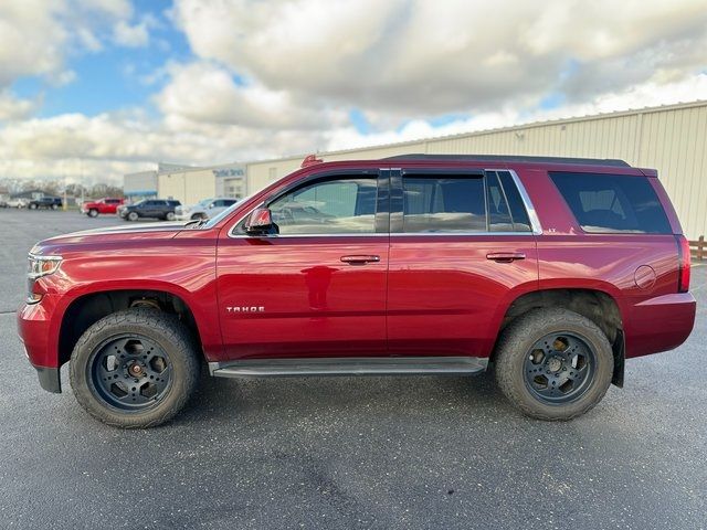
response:
[[[78,404],[115,427],[170,420],[197,388],[200,363],[187,329],[155,309],[115,312],[91,326],[71,356]]]

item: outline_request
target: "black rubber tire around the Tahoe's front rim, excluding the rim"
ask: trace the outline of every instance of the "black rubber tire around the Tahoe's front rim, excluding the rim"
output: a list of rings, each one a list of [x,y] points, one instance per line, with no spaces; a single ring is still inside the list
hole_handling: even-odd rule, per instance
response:
[[[131,333],[150,339],[168,352],[171,381],[150,409],[126,412],[101,398],[92,381],[91,365],[103,343]],[[81,336],[71,356],[70,381],[78,404],[96,420],[114,427],[147,428],[167,422],[184,406],[197,388],[200,370],[194,341],[177,317],[134,308],[102,318]]]

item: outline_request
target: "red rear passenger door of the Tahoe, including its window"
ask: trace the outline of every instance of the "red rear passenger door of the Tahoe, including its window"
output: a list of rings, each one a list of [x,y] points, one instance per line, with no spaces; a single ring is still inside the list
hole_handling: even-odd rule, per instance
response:
[[[518,184],[505,169],[393,170],[391,354],[489,354],[507,305],[538,285]]]

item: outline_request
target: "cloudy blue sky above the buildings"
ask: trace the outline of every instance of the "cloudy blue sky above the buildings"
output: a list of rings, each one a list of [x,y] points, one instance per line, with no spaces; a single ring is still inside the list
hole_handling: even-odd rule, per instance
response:
[[[707,99],[707,0],[2,0],[0,178]]]

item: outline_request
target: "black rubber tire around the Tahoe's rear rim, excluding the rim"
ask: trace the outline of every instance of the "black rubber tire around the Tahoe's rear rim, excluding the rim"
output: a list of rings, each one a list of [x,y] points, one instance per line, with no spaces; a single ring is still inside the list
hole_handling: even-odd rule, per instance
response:
[[[526,382],[526,359],[542,337],[562,332],[582,338],[591,348],[595,367],[583,393],[566,403],[548,403],[534,395]],[[568,421],[599,403],[611,384],[614,358],[604,332],[590,319],[569,309],[535,309],[511,322],[499,337],[496,381],[508,400],[528,416],[545,421]]]

